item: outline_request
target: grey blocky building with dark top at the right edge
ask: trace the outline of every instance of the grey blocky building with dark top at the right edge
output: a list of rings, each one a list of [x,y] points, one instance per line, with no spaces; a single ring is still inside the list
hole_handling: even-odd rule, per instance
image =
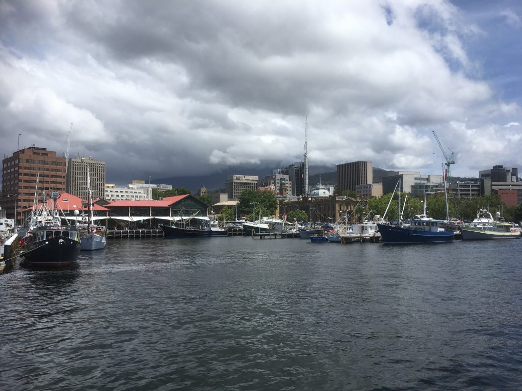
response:
[[[499,194],[506,205],[518,205],[522,202],[522,182],[518,181],[517,167],[493,166],[492,169],[480,171],[479,177],[482,196]],[[513,190],[517,192],[516,201]]]

